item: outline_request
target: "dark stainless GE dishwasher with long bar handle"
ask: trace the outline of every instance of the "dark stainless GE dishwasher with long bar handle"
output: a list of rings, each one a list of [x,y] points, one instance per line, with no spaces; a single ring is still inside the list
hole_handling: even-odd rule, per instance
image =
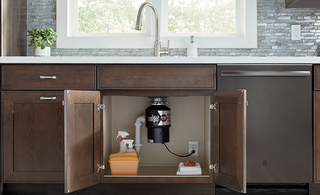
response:
[[[247,90],[247,183],[312,183],[311,69],[218,64],[217,90]]]

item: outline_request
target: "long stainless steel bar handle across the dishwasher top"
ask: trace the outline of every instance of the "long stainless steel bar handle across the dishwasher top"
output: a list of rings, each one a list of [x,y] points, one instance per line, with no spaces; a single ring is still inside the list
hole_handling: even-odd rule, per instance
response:
[[[221,70],[221,76],[310,76],[310,71]]]

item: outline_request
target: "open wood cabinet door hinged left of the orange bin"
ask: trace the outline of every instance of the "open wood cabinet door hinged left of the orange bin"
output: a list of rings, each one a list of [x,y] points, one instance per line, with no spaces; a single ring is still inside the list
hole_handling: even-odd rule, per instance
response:
[[[65,193],[100,183],[99,91],[64,91]]]

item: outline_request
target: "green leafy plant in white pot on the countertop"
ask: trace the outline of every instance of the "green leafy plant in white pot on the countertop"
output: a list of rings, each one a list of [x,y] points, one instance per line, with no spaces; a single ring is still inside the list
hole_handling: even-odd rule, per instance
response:
[[[50,56],[50,47],[46,47],[44,44],[52,45],[53,41],[58,36],[51,28],[45,28],[42,30],[33,29],[28,30],[31,38],[29,47],[34,47],[34,56]]]

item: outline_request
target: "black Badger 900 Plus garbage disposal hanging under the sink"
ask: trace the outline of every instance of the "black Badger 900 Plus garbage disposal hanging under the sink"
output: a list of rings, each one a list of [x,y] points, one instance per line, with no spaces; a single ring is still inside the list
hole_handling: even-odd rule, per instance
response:
[[[146,111],[147,141],[149,143],[169,142],[171,127],[171,109],[165,104],[165,98],[149,98],[150,106]]]

